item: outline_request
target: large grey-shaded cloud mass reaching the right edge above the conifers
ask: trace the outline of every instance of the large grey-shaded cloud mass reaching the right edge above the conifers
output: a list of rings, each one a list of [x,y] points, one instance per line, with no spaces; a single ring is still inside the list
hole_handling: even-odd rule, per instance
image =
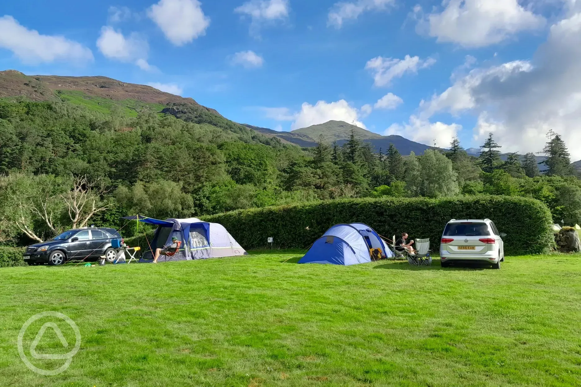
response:
[[[424,119],[441,111],[476,115],[475,139],[494,132],[503,151],[540,151],[553,129],[568,143],[573,160],[579,160],[581,12],[551,26],[532,61],[476,68],[421,110]]]

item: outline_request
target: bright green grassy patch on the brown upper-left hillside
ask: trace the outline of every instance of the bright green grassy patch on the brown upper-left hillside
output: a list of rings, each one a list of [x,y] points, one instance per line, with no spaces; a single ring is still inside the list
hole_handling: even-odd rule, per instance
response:
[[[89,96],[80,91],[61,90],[59,97],[72,104],[84,106],[92,111],[98,111],[103,114],[111,114],[113,110],[120,110],[127,117],[137,117],[138,111],[149,108],[153,111],[162,111],[165,107],[157,103],[145,103],[134,99],[125,99],[121,101]]]

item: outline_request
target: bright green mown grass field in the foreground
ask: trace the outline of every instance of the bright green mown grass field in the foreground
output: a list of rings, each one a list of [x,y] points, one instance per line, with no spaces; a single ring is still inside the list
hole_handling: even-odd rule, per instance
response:
[[[507,257],[501,270],[298,256],[0,269],[0,385],[581,385],[579,255]],[[28,370],[16,344],[47,310],[82,335],[52,377]],[[37,352],[69,352],[46,332]]]

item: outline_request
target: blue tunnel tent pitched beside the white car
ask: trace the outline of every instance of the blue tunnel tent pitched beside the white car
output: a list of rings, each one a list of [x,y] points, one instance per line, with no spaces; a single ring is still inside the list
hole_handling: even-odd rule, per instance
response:
[[[318,238],[299,263],[356,265],[371,262],[371,249],[379,249],[383,257],[392,257],[388,244],[363,223],[339,224]]]

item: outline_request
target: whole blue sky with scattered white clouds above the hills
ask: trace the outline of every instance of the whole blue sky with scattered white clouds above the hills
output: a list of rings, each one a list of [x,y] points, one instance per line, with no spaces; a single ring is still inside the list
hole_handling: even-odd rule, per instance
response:
[[[578,160],[580,12],[576,0],[3,2],[0,68],[151,84],[285,131],[336,119],[465,147],[494,132],[525,152],[553,128]]]

